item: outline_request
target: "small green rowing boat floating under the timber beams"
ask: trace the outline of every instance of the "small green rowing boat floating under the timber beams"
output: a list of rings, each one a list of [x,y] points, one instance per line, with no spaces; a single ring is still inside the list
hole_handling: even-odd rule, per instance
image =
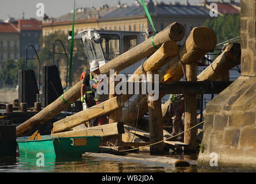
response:
[[[36,157],[39,153],[47,158],[78,157],[84,152],[98,152],[100,136],[53,137],[42,136],[39,140],[18,137],[18,150],[25,157]]]

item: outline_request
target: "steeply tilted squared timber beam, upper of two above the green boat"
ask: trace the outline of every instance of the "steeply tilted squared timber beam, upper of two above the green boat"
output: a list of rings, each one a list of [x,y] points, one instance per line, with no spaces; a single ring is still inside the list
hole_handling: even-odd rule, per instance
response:
[[[68,131],[69,129],[81,125],[86,121],[92,120],[98,116],[103,116],[114,109],[120,108],[123,106],[123,102],[120,99],[121,97],[110,98],[101,104],[92,106],[91,108],[54,122],[53,133]]]

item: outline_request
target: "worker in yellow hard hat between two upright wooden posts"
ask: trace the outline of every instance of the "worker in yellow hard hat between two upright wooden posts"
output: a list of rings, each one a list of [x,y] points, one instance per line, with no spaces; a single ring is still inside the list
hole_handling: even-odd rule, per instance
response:
[[[173,82],[173,76],[171,74],[164,75],[164,82]],[[182,115],[184,113],[184,95],[183,94],[171,94],[170,105],[168,106],[168,113],[172,119],[169,123],[172,125],[171,136],[177,135],[180,131],[184,130],[182,122]],[[175,140],[181,140],[183,136],[175,137]]]

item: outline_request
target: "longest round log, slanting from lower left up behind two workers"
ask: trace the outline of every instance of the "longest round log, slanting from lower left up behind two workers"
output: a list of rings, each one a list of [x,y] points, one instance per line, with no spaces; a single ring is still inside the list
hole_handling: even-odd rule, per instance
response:
[[[154,44],[159,46],[168,40],[180,41],[183,39],[184,35],[184,26],[179,22],[173,22],[167,28],[155,35]],[[133,47],[129,51],[106,63],[100,68],[100,70],[102,74],[107,74],[110,69],[121,71],[143,59],[144,57],[151,55],[156,50],[157,49],[153,47],[151,43],[151,38],[147,39],[143,43],[136,45],[136,47]],[[33,131],[34,129],[40,127],[40,125],[54,118],[57,114],[69,106],[69,103],[75,102],[76,99],[80,97],[82,81],[83,80],[76,83],[76,85],[66,91],[63,97],[61,96],[57,98],[53,103],[41,110],[38,114],[29,118],[29,120],[25,121],[23,124],[19,125],[16,128],[16,136],[25,136],[26,133]]]

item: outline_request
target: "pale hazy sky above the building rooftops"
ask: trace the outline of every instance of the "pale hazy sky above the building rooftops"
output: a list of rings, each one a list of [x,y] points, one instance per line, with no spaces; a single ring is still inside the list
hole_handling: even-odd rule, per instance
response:
[[[157,0],[157,2],[161,1],[170,3],[177,0]],[[180,3],[185,3],[186,1],[187,0],[180,0]],[[0,0],[0,20],[6,20],[8,16],[16,19],[22,18],[23,12],[25,13],[25,18],[36,18],[38,20],[42,20],[42,18],[36,16],[36,11],[38,10],[36,5],[38,3],[44,4],[44,13],[46,13],[47,16],[59,17],[73,9],[73,2],[73,0]],[[120,0],[120,2],[132,5],[135,0]],[[191,5],[194,5],[199,3],[200,0],[189,0],[189,2]],[[103,4],[115,6],[117,3],[118,0],[76,0],[76,7],[99,7]]]

